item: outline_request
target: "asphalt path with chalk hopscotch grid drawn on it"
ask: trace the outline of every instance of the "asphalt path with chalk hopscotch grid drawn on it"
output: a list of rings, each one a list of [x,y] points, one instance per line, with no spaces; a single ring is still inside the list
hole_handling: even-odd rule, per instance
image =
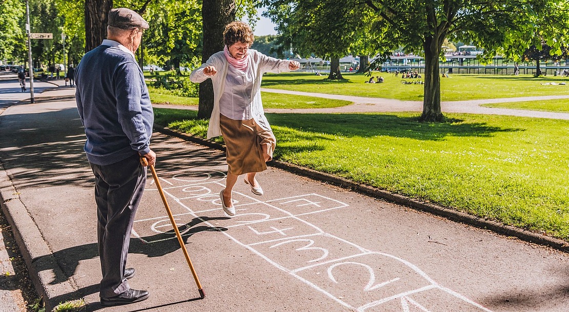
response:
[[[32,274],[50,305],[84,297],[86,311],[97,311],[93,178],[72,93],[44,92],[36,104],[0,115],[0,186],[11,196],[3,206],[19,220]],[[131,287],[149,290],[150,298],[105,310],[566,312],[569,306],[566,253],[272,167],[258,177],[263,196],[238,181],[238,216],[229,219],[218,198],[224,154],[159,133],[152,149],[207,296],[199,299],[149,175],[127,265],[137,269]]]

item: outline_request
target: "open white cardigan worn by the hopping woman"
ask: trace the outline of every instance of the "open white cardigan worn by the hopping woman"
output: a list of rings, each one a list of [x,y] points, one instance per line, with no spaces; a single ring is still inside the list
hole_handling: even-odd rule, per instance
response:
[[[261,101],[261,79],[263,73],[272,72],[289,72],[288,64],[291,61],[279,60],[266,56],[257,50],[249,50],[247,52],[249,66],[253,69],[253,92],[251,92],[251,115],[253,119],[261,128],[265,130],[271,130],[269,121],[265,117],[265,112],[263,112],[263,103]],[[207,76],[204,74],[204,68],[208,66],[213,66],[217,69],[217,73],[213,76]],[[213,83],[213,112],[211,118],[209,118],[208,136],[207,138],[213,138],[221,136],[221,129],[219,126],[219,100],[225,88],[225,79],[227,76],[227,69],[229,67],[229,62],[225,59],[223,51],[217,52],[209,57],[208,61],[189,75],[189,79],[192,83],[201,83],[208,78],[211,78]]]

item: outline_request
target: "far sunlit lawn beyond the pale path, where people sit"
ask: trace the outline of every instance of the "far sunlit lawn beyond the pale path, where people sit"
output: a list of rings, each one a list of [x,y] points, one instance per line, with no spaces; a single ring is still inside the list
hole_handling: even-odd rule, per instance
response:
[[[368,76],[345,73],[344,81],[325,80],[326,76],[312,73],[279,73],[263,76],[263,88],[292,91],[328,93],[335,95],[384,97],[398,100],[422,101],[424,85],[401,83],[401,76],[385,72],[374,72],[373,76],[383,76],[383,84],[366,84]],[[407,79],[410,80],[410,79]],[[568,77],[539,77],[530,75],[452,75],[441,78],[441,98],[443,101],[479,100],[483,98],[503,98],[543,95],[567,95],[569,85],[542,85],[548,82],[569,82]]]

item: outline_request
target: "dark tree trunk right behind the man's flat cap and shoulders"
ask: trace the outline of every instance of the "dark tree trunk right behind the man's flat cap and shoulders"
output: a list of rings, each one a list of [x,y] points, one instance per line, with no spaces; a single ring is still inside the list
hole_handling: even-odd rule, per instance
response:
[[[85,0],[85,52],[106,39],[106,26],[113,0]]]

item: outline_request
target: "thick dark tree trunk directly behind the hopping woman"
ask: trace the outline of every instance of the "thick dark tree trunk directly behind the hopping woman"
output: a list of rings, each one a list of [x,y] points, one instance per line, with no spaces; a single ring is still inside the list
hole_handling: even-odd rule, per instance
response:
[[[223,31],[225,26],[235,20],[234,0],[208,0],[201,5],[203,18],[204,48],[201,62],[205,63],[210,56],[223,50]],[[221,71],[221,68],[217,68]],[[206,79],[200,84],[200,101],[197,107],[197,118],[209,119],[213,110],[213,84]]]

